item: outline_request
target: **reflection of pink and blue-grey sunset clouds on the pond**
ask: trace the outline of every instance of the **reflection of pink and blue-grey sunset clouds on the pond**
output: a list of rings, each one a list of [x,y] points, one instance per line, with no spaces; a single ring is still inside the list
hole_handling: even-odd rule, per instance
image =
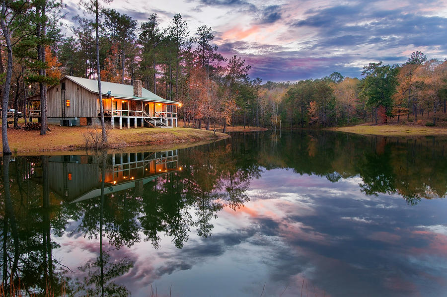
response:
[[[147,296],[150,284],[160,296],[170,285],[177,296],[260,296],[264,284],[264,296],[285,288],[282,296],[300,296],[303,279],[311,296],[313,286],[318,296],[442,296],[444,201],[411,207],[398,195],[365,196],[358,182],[266,170],[252,180],[245,206],[211,222],[212,236],[192,230],[182,249],[161,236],[159,250],[139,242],[111,252],[135,262],[116,282],[137,297]],[[61,250],[70,249],[71,258],[85,263],[97,255],[97,239],[68,233]]]

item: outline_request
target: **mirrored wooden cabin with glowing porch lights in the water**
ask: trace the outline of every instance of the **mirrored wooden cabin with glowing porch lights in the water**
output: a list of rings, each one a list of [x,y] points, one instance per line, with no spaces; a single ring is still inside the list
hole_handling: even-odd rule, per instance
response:
[[[49,157],[50,189],[66,201],[78,202],[101,195],[102,161],[91,156]],[[143,185],[178,167],[177,150],[128,152],[107,155],[104,194],[126,189],[142,190]]]

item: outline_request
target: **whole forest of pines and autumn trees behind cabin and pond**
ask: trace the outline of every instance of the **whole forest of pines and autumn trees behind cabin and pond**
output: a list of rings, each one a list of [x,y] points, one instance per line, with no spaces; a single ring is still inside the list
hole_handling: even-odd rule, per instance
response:
[[[369,63],[360,79],[334,70],[323,78],[263,83],[249,77],[252,66],[243,57],[219,52],[211,27],[189,28],[180,14],[162,27],[156,13],[140,22],[98,0],[81,1],[75,16],[62,8],[58,1],[2,1],[2,105],[15,109],[14,127],[26,96],[65,74],[124,84],[141,79],[153,93],[182,102],[183,126],[207,130],[319,128],[387,123],[390,117],[424,118],[435,126],[446,113],[447,62],[422,52],[402,65]],[[64,27],[63,17],[74,25]],[[41,134],[45,121],[43,127]]]

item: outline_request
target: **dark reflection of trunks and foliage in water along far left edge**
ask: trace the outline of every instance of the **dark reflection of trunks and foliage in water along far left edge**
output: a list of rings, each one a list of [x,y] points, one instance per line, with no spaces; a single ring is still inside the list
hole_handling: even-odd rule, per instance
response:
[[[2,283],[5,290],[20,287],[27,294],[55,295],[66,278],[52,256],[57,245],[50,230],[60,233],[66,222],[59,216],[60,209],[50,204],[48,158],[39,159],[34,161],[42,164],[38,177],[42,190],[29,179],[32,168],[25,159],[12,162],[10,156],[3,157]]]

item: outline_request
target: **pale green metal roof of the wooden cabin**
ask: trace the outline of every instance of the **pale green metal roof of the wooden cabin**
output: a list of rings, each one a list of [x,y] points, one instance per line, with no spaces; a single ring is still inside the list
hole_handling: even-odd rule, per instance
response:
[[[65,75],[61,78],[64,79],[67,77],[68,79],[74,81],[80,86],[86,88],[92,93],[98,92],[98,81],[95,79],[81,78],[76,76]],[[179,102],[163,99],[160,96],[155,95],[148,89],[142,87],[142,95],[143,97],[134,96],[134,86],[129,84],[121,84],[115,82],[101,81],[101,93],[107,96],[107,92],[110,91],[110,96],[117,99],[136,99],[143,101],[152,101],[152,102],[161,102],[161,103],[170,103],[170,104],[178,104]]]

